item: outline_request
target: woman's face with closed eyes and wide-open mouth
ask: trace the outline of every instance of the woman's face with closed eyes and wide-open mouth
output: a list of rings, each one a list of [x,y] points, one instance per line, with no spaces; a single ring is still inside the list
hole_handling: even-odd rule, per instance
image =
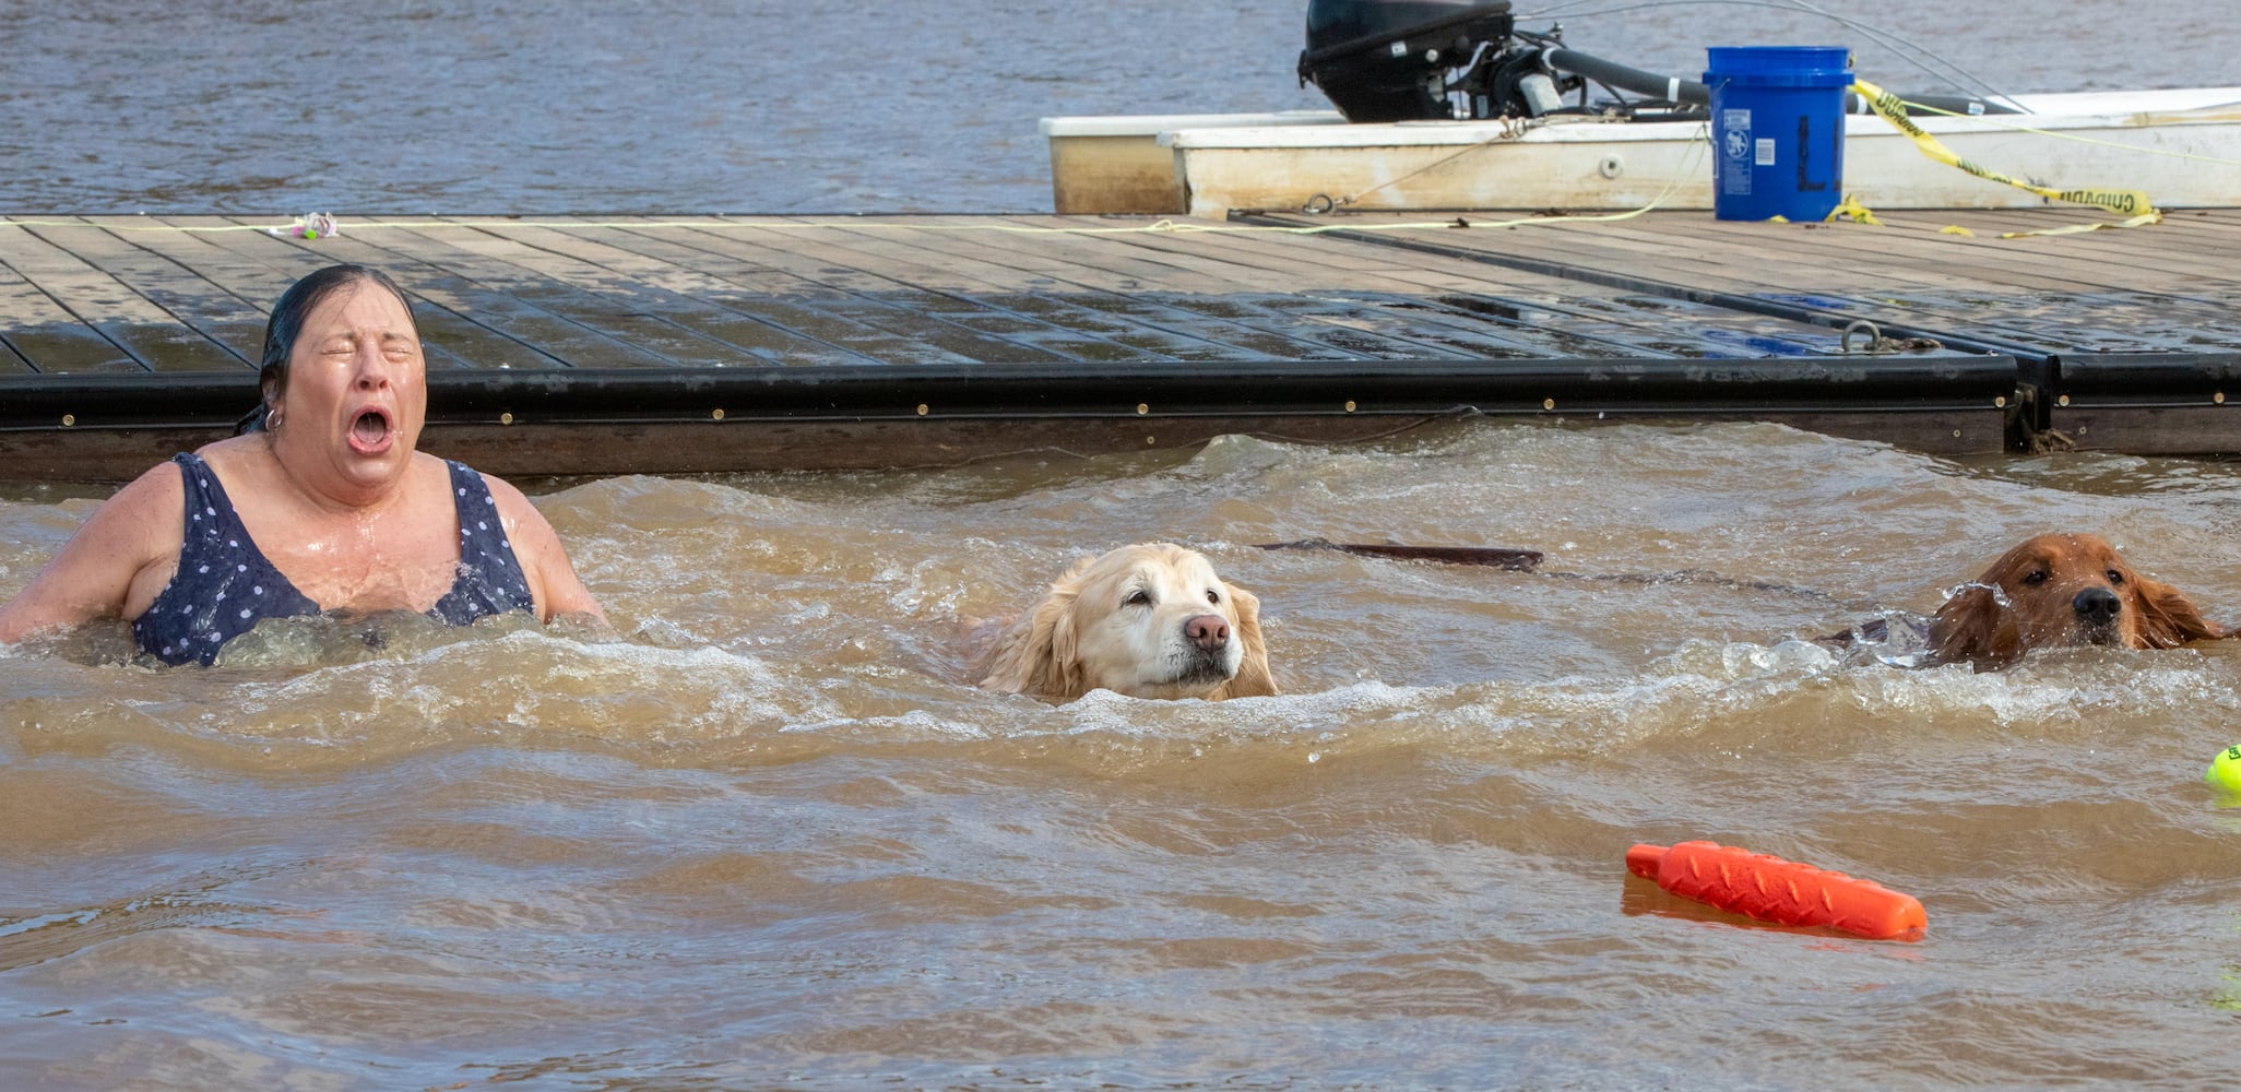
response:
[[[428,417],[428,363],[403,300],[370,280],[318,300],[289,350],[273,453],[318,487],[359,500],[394,484]]]

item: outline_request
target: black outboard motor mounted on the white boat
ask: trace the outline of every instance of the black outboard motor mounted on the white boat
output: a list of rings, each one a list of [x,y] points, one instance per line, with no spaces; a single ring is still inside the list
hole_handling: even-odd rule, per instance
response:
[[[1472,117],[1484,108],[1457,103],[1450,70],[1504,49],[1513,29],[1508,0],[1309,0],[1300,83],[1347,121]]]

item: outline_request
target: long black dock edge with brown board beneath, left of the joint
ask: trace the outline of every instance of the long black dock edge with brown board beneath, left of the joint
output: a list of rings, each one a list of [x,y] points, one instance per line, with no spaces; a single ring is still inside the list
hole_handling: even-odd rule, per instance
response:
[[[2017,361],[1988,354],[430,372],[428,401],[424,448],[536,475],[943,466],[1461,417],[1761,419],[1986,453],[2028,424]],[[130,478],[253,406],[247,374],[0,377],[0,478]]]

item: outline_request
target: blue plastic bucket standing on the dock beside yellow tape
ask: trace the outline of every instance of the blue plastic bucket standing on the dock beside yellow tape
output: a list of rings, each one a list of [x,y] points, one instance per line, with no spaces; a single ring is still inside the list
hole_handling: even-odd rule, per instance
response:
[[[1714,45],[1712,215],[1826,220],[1844,197],[1842,45]]]

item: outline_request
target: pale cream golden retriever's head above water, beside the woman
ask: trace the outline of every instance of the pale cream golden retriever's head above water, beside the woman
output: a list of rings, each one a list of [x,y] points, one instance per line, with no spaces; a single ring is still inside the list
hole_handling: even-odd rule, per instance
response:
[[[991,648],[979,686],[1071,702],[1105,688],[1129,697],[1273,695],[1259,599],[1172,543],[1085,558]]]

